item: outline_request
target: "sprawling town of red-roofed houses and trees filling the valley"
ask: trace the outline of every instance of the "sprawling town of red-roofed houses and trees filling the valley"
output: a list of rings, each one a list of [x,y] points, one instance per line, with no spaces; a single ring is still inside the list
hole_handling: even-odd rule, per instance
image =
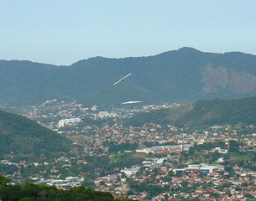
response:
[[[117,118],[129,118],[133,113],[177,106],[103,113],[97,111],[97,106],[84,108],[76,101],[53,100],[32,106],[20,114],[68,137],[81,152],[52,162],[13,162],[15,156],[10,154],[1,159],[1,171],[16,183],[47,183],[60,189],[85,186],[110,192],[116,198],[256,198],[255,126],[248,127],[252,132],[240,135],[231,125],[189,131],[174,125],[116,123]],[[63,123],[67,119],[74,121]]]

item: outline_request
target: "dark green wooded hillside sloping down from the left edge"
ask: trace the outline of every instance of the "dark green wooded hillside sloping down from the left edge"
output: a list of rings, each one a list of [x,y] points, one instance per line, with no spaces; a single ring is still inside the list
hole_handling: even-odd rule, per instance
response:
[[[57,153],[71,152],[72,148],[65,137],[5,111],[0,111],[0,142],[0,158],[9,154],[28,160],[50,160]]]

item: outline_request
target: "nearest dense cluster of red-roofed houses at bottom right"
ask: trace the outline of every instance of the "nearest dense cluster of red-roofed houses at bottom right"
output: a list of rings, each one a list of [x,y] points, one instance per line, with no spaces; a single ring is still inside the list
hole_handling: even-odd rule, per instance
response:
[[[108,191],[115,197],[124,196],[138,200],[180,200],[180,198],[199,198],[200,200],[246,200],[256,198],[256,173],[234,168],[241,173],[239,178],[224,178],[220,172],[224,171],[222,165],[189,164],[186,168],[170,168],[166,162],[168,158],[154,158],[144,161],[141,166],[123,168],[121,173],[107,175],[94,180],[96,190]],[[139,172],[139,173],[138,173]],[[170,173],[174,173],[170,175]],[[201,174],[200,173],[204,173]],[[128,179],[129,178],[129,179]],[[167,179],[171,178],[171,179]],[[129,182],[128,182],[129,180]],[[150,186],[161,188],[169,187],[157,196],[149,197],[146,191],[133,192],[131,183],[148,183]],[[191,192],[184,192],[185,188],[193,188]],[[133,192],[132,194],[130,194]]]

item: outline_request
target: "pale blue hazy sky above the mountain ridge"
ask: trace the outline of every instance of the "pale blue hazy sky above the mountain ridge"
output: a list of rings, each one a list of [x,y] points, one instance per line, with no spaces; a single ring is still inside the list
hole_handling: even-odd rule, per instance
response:
[[[72,64],[193,47],[256,54],[255,0],[0,0],[0,59]]]

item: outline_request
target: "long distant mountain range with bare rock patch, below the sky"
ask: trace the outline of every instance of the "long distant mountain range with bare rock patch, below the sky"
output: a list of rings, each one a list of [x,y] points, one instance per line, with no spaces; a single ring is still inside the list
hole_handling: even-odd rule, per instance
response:
[[[113,85],[128,73],[126,82]],[[256,56],[181,48],[148,57],[95,57],[70,66],[0,60],[0,85],[0,103],[7,106],[54,98],[102,107],[238,98],[256,95]]]

